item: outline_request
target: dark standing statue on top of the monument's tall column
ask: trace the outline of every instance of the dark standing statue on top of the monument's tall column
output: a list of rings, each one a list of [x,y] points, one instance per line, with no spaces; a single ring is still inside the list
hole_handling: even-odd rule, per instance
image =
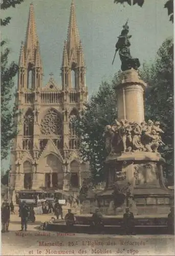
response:
[[[121,60],[121,70],[129,70],[129,69],[135,69],[137,70],[140,67],[140,61],[138,58],[133,58],[130,55],[130,41],[129,38],[131,38],[131,35],[128,35],[129,32],[129,26],[128,26],[128,20],[126,24],[123,26],[123,30],[121,31],[120,36],[118,37],[118,41],[116,43],[116,53],[119,51],[119,56]],[[114,56],[114,59],[115,59]],[[114,63],[113,59],[113,63]]]

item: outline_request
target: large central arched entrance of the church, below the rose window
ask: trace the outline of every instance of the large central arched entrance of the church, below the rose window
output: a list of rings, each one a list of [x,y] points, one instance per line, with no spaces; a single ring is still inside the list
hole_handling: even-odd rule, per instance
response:
[[[48,155],[46,157],[45,165],[45,186],[46,188],[62,189],[63,172],[62,164],[55,155]]]

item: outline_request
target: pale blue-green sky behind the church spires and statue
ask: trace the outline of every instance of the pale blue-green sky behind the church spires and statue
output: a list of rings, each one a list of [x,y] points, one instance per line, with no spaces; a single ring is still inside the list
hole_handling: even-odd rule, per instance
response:
[[[20,42],[25,40],[29,7],[33,3],[40,53],[43,63],[43,86],[52,72],[61,84],[60,67],[63,43],[67,38],[71,0],[24,0],[16,8],[2,11],[11,16],[10,25],[1,28],[2,39],[11,49],[10,61],[18,62]],[[120,69],[119,56],[112,60],[123,24],[129,19],[131,54],[140,62],[154,60],[162,42],[173,36],[165,0],[146,0],[139,6],[114,4],[114,0],[74,0],[76,19],[86,63],[86,86],[89,95],[98,90],[102,80],[112,79]]]

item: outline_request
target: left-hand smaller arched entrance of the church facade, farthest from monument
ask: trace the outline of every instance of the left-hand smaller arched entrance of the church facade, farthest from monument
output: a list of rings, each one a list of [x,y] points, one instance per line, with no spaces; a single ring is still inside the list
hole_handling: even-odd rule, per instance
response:
[[[25,189],[32,189],[32,164],[29,161],[24,162],[24,188]]]

